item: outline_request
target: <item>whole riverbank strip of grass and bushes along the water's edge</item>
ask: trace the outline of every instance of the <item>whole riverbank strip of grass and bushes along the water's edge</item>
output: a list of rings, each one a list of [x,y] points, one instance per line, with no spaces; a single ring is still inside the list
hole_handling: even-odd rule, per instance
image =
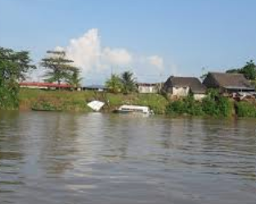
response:
[[[101,100],[106,105],[102,112],[110,113],[122,104],[146,105],[156,114],[172,116],[203,116],[214,118],[256,118],[255,101],[240,101],[228,99],[221,95],[209,93],[202,102],[186,97],[183,100],[169,101],[163,95],[132,93],[111,94],[95,91],[43,91],[32,89],[20,89],[20,110],[43,111],[70,111],[92,112],[88,102]]]

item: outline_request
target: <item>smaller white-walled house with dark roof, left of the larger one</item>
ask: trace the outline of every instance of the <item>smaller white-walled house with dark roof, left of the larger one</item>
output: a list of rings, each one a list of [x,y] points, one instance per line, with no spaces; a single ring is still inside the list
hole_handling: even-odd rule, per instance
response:
[[[198,78],[171,76],[164,82],[163,90],[172,98],[186,97],[192,93],[195,100],[202,100],[205,96],[206,87]]]

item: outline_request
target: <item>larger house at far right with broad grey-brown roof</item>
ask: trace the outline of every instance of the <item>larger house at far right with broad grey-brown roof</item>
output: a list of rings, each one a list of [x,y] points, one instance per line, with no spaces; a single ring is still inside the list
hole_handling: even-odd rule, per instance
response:
[[[216,88],[227,94],[255,91],[242,73],[208,73],[203,84],[207,88]]]

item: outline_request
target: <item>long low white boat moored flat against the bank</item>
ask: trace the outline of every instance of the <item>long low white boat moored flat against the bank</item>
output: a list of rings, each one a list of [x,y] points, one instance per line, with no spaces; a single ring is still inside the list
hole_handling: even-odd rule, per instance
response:
[[[124,104],[115,110],[115,113],[144,113],[144,114],[153,114],[153,111],[150,110],[147,106],[141,105],[128,105]]]

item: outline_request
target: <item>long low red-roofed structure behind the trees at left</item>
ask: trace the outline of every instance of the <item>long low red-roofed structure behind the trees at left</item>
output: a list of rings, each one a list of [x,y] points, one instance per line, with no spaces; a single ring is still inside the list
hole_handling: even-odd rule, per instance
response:
[[[62,83],[49,83],[49,82],[20,82],[22,88],[38,88],[38,89],[70,89],[73,86],[70,84]]]

